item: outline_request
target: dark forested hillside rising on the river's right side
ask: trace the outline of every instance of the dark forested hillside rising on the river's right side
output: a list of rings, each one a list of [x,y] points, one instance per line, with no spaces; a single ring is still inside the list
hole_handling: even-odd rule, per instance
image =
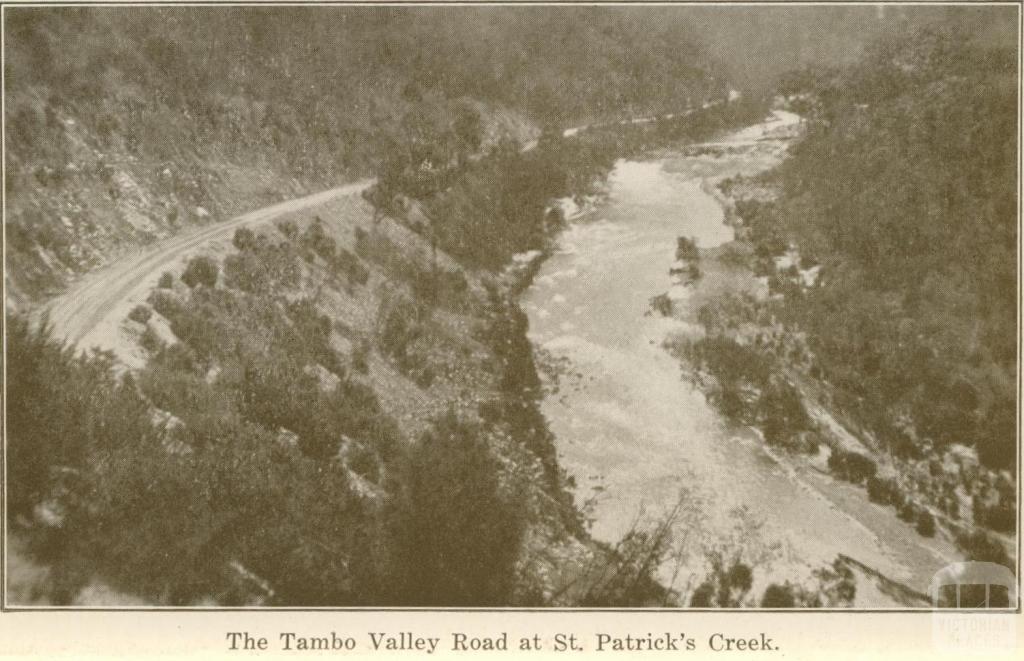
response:
[[[716,259],[767,297],[705,305],[683,352],[769,444],[814,455],[828,437],[834,476],[1005,564],[1010,538],[984,530],[1017,525],[1017,76],[1012,45],[955,23],[784,76],[803,137],[721,184],[739,240]]]

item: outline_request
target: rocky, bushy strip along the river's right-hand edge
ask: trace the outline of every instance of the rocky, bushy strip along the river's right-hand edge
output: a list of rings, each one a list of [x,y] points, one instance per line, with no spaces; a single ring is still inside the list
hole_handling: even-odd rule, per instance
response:
[[[888,485],[913,487],[901,476],[898,460],[881,452],[876,439],[834,409],[827,384],[815,381],[813,368],[808,369],[812,358],[803,335],[771,312],[771,302],[785,296],[785,287],[813,287],[820,266],[802,261],[792,250],[767,262],[757,241],[751,240],[752,230],[736,210],[771,197],[772,184],[764,177],[715,183],[725,222],[740,238],[701,250],[694,258],[700,275],[686,283],[686,295],[673,309],[689,332],[678,334],[669,343],[671,350],[716,407],[749,430],[746,442],[758,444],[781,470],[880,540],[889,561],[915,559],[872,566],[880,575],[910,586],[909,591],[887,592],[925,591],[935,571],[962,559],[958,546],[970,528],[932,506],[923,494],[904,495],[899,504],[877,493]],[[742,361],[738,372],[729,371],[729,360]],[[887,508],[894,502],[895,509]]]

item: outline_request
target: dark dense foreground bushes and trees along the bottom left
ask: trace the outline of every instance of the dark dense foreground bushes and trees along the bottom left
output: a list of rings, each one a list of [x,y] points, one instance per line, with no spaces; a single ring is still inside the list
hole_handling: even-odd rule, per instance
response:
[[[378,452],[393,467],[381,504],[353,489],[345,462],[308,446],[341,434],[382,442],[372,391],[342,382],[321,395],[298,374],[252,384],[259,377],[247,371],[237,395],[189,372],[186,351],[169,350],[136,386],[113,376],[109,357],[76,358],[22,317],[7,333],[18,383],[8,399],[8,512],[52,568],[48,599],[68,603],[96,576],[162,604],[511,599],[524,511],[480,428],[450,413],[412,447]],[[280,353],[264,364],[275,360],[287,366]],[[183,424],[155,425],[154,404]],[[298,433],[297,446],[282,426]],[[359,468],[351,452],[347,464]]]

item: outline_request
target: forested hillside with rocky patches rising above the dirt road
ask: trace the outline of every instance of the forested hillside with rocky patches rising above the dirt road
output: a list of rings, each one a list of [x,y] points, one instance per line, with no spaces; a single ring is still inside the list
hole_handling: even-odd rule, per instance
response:
[[[15,301],[396,150],[436,164],[726,91],[685,32],[618,11],[13,8],[6,35]]]

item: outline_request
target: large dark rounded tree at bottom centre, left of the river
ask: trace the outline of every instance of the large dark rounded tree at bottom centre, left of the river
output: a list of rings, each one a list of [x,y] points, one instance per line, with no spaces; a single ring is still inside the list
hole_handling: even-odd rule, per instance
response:
[[[407,606],[507,603],[524,530],[483,430],[450,410],[399,462],[386,513],[393,599]]]

